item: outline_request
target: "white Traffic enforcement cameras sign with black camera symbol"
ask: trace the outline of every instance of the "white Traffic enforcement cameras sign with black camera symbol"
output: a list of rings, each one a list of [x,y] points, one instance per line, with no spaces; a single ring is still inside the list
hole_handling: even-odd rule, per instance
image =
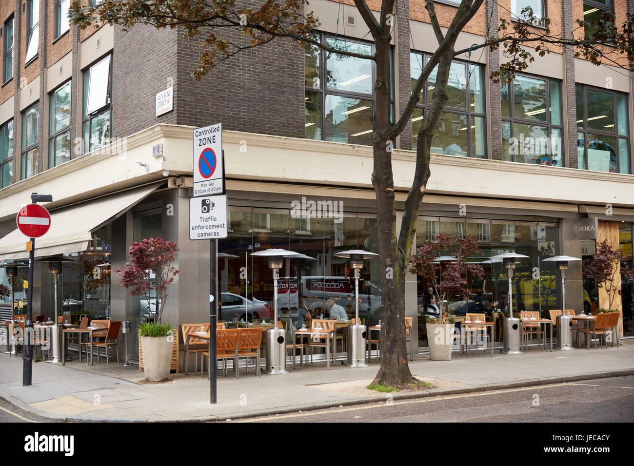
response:
[[[221,240],[226,237],[226,195],[190,198],[190,240]]]

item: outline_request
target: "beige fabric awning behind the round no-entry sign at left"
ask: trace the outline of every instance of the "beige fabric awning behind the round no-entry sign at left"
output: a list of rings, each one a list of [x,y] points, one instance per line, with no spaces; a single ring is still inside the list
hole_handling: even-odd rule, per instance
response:
[[[126,213],[141,202],[159,185],[123,191],[51,212],[51,228],[46,235],[36,238],[36,257],[53,256],[88,249],[92,233]],[[29,257],[29,241],[17,228],[0,239],[0,260]]]

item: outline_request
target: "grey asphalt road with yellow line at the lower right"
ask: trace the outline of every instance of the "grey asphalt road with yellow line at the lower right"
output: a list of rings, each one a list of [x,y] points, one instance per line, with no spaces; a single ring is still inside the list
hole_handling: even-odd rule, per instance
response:
[[[632,422],[634,376],[418,398],[235,422]]]

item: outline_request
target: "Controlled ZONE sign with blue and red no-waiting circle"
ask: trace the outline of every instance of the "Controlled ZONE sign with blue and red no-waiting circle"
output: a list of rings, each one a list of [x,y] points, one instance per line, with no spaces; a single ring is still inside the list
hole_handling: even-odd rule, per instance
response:
[[[224,193],[223,124],[194,130],[194,197]]]

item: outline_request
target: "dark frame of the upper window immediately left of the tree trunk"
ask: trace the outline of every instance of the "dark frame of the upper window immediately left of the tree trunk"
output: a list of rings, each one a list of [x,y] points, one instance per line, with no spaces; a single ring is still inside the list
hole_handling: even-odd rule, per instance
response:
[[[332,34],[329,32],[320,32],[318,33],[319,35],[319,40],[320,40],[320,44],[324,45],[327,43],[328,39],[333,39],[335,41],[347,41],[347,42],[353,42],[354,44],[363,44],[366,46],[370,46],[370,48],[372,49],[372,53],[376,53],[376,48],[373,44],[373,42],[367,42],[367,41],[362,41],[361,39],[357,39],[356,37],[347,37],[347,36],[338,36],[337,34]],[[312,86],[306,86],[306,84],[304,84],[304,96],[306,96],[307,93],[316,93],[316,94],[320,94],[320,112],[321,112],[321,139],[313,139],[314,141],[328,141],[328,139],[326,138],[326,113],[325,113],[325,108],[326,108],[326,98],[327,96],[337,96],[337,97],[343,97],[343,98],[349,98],[349,99],[359,99],[359,100],[370,100],[372,101],[372,122],[374,122],[375,119],[375,115],[376,115],[376,94],[375,94],[375,90],[374,90],[374,86],[372,86],[372,93],[371,94],[364,94],[364,93],[358,93],[358,92],[354,92],[354,91],[344,91],[341,89],[333,89],[332,87],[328,87],[328,82],[327,82],[327,61],[328,58],[326,56],[326,54],[328,53],[327,51],[323,50],[323,49],[318,49],[319,52],[319,82],[320,82],[320,86],[315,88]],[[363,60],[363,59],[361,59]],[[376,81],[376,77],[377,77],[377,67],[376,67],[376,63],[374,60],[368,58],[368,61],[370,61],[371,66],[372,66],[372,76],[370,77],[370,79],[372,80],[372,83]],[[391,120],[394,121],[394,49],[391,48],[390,49],[390,61],[392,63],[391,66],[391,76],[390,76],[390,90],[391,90]],[[305,65],[304,65],[305,66]],[[306,107],[304,107],[306,108]],[[305,122],[306,120],[304,120]],[[373,129],[373,128],[372,128]],[[350,135],[349,135],[350,136]],[[306,138],[306,132],[304,131],[304,138]],[[306,138],[307,139],[307,138]],[[359,143],[354,143],[354,142],[347,142],[347,144],[359,144]]]

